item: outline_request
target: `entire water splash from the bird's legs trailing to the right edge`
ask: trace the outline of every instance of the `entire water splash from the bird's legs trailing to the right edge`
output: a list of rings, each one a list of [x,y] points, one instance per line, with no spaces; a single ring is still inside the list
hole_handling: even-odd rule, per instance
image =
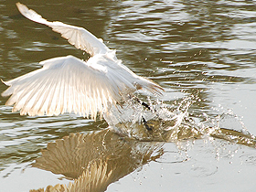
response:
[[[194,102],[193,96],[169,104],[152,101],[148,97],[148,108],[145,108],[142,102],[133,98],[122,107],[112,107],[110,112],[104,114],[104,118],[116,132],[141,141],[177,143],[213,137],[256,146],[255,136],[249,133],[240,117],[233,112],[222,112],[215,116],[207,113],[195,115],[189,113]]]

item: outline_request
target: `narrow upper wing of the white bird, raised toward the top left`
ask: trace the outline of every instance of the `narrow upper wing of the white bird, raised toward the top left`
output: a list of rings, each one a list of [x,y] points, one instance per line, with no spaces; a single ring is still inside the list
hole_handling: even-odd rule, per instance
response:
[[[91,56],[100,53],[104,54],[109,50],[101,39],[93,36],[88,30],[82,27],[70,26],[59,21],[49,22],[38,15],[37,12],[28,9],[26,5],[16,3],[16,6],[23,16],[37,23],[51,27],[53,31],[60,33],[62,37],[68,39],[71,45],[88,52]]]

